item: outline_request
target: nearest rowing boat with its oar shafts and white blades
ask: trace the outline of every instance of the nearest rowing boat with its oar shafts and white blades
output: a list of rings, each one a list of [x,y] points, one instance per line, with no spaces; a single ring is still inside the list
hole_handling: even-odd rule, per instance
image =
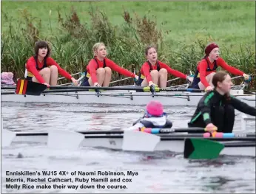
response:
[[[4,138],[9,138],[5,132]],[[106,133],[106,134],[104,134]],[[112,133],[112,134],[111,134]],[[48,132],[21,132],[15,134],[11,139],[12,143],[42,143],[50,148],[70,148],[73,144],[78,147],[108,148],[112,150],[132,151],[171,151],[183,153],[185,139],[202,139],[202,134],[172,133],[172,134],[147,134],[141,131],[60,131],[51,130]],[[159,141],[157,141],[159,139]],[[212,141],[225,144],[220,155],[231,156],[255,156],[255,134],[238,134],[230,138],[208,137]],[[208,150],[207,150],[208,151]],[[209,152],[211,152],[209,148]]]

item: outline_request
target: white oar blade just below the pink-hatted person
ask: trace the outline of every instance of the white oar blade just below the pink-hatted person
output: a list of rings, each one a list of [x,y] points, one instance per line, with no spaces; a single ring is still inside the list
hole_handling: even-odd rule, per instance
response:
[[[152,152],[161,137],[141,131],[124,131],[122,150]]]

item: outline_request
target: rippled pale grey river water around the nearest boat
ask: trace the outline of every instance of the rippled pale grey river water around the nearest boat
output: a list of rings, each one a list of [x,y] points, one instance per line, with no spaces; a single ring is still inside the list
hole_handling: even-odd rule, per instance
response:
[[[187,126],[195,107],[166,107],[165,110],[173,122],[173,128],[180,128]],[[141,117],[143,112],[144,107],[136,105],[1,103],[3,128],[11,131],[126,128]],[[236,114],[238,117],[235,120],[234,131],[239,131],[240,113]],[[247,130],[255,131],[255,121],[248,123]],[[53,174],[43,176],[44,170],[53,170]],[[40,175],[10,176],[7,175],[7,171],[28,171]],[[57,175],[54,175],[54,171]],[[62,171],[69,174],[64,175]],[[95,172],[95,175],[91,173],[90,176],[78,176],[78,171]],[[124,175],[99,176],[98,171],[118,172]],[[127,171],[132,171],[133,176],[127,174]],[[71,175],[75,172],[76,175]],[[27,178],[44,177],[47,177],[47,180],[70,177],[73,181],[75,178],[81,180],[73,183],[27,182]],[[106,182],[91,180],[102,177],[109,179]],[[10,183],[7,182],[7,178],[20,178],[24,179],[24,182]],[[111,178],[117,182],[110,182]],[[129,182],[124,182],[123,179]],[[17,143],[12,144],[10,148],[1,149],[1,183],[2,193],[255,193],[255,158],[221,156],[219,159],[202,162],[183,159],[183,156],[177,153],[127,153],[96,148],[79,148],[75,151],[49,150],[46,145]],[[7,189],[7,184],[12,184],[13,189]],[[14,184],[21,187],[18,188]],[[44,184],[47,184],[47,189],[36,189],[36,185],[43,187]],[[58,184],[59,187],[63,184],[64,189],[53,188],[54,184]],[[97,187],[97,184],[100,186]],[[72,189],[74,185],[78,186],[76,190]],[[107,186],[111,185],[119,186],[119,189],[107,189]],[[90,186],[94,186],[94,189],[88,188]],[[126,188],[120,189],[120,186]]]

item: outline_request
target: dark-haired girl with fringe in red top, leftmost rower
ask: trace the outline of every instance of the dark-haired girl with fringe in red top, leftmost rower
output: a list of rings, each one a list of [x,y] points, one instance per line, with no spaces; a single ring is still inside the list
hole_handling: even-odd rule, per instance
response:
[[[35,56],[29,58],[25,64],[24,76],[27,80],[42,83],[48,87],[56,86],[59,73],[78,85],[74,77],[62,69],[53,58],[50,58],[50,46],[46,41],[37,41],[34,50]]]

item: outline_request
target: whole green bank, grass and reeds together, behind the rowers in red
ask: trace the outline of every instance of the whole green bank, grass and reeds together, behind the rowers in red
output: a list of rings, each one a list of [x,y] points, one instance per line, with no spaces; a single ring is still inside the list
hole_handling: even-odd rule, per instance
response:
[[[254,1],[2,1],[1,20],[1,71],[17,77],[38,38],[50,41],[53,58],[70,73],[84,71],[97,41],[137,72],[144,46],[157,44],[160,60],[184,73],[216,41],[228,63],[255,74]]]

